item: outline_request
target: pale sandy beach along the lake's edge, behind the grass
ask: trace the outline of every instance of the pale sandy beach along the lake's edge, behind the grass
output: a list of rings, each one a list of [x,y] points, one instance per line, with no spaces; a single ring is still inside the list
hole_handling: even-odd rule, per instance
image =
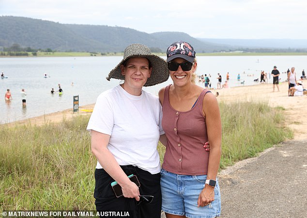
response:
[[[285,109],[283,113],[286,116],[286,123],[294,132],[294,139],[307,139],[307,95],[304,95],[303,97],[289,97],[288,83],[279,84],[279,90],[279,92],[277,90],[273,92],[272,84],[258,84],[231,87],[227,89],[215,89],[211,91],[214,94],[218,92],[218,101],[224,101],[226,103],[232,101],[266,101],[272,107],[282,107]],[[92,109],[93,107],[94,103],[79,107],[79,112],[77,113],[73,113],[73,109],[68,109],[52,114],[16,121],[9,125],[25,124],[28,122],[31,122],[32,125],[42,125],[48,122],[61,122],[63,118],[69,119],[78,115],[88,115],[90,112],[82,111],[82,109]],[[261,119],[261,117],[259,118]]]

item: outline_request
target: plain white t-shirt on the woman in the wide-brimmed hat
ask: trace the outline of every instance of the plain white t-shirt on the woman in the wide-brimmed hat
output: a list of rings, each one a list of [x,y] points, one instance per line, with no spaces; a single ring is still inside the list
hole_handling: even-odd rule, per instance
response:
[[[133,165],[152,174],[160,172],[157,151],[162,107],[157,96],[142,90],[140,96],[118,85],[97,98],[87,130],[110,135],[108,150],[119,165]],[[97,162],[96,168],[102,168]]]

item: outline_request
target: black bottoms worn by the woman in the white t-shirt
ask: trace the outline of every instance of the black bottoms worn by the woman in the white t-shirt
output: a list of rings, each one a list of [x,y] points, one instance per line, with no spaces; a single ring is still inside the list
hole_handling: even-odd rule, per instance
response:
[[[121,166],[125,174],[134,174],[140,183],[140,195],[153,195],[154,199],[150,204],[137,205],[133,198],[116,198],[111,183],[114,182],[104,169],[95,170],[94,198],[97,211],[128,211],[133,218],[160,218],[161,217],[161,188],[160,173],[150,172],[134,167],[132,165]]]

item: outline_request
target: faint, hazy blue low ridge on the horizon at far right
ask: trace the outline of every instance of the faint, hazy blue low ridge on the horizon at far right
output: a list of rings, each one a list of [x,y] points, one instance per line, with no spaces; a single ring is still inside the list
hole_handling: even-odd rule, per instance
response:
[[[212,39],[198,38],[202,42],[216,43],[228,47],[307,49],[307,39]]]

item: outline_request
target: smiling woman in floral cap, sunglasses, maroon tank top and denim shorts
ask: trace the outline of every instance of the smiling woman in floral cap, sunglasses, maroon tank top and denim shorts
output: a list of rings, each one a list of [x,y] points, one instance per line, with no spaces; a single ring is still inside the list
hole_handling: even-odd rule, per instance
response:
[[[217,171],[221,117],[215,96],[194,83],[197,60],[183,41],[167,50],[173,84],[159,91],[167,147],[161,169],[162,210],[167,218],[215,218],[221,199]],[[201,152],[203,141],[210,152]]]

